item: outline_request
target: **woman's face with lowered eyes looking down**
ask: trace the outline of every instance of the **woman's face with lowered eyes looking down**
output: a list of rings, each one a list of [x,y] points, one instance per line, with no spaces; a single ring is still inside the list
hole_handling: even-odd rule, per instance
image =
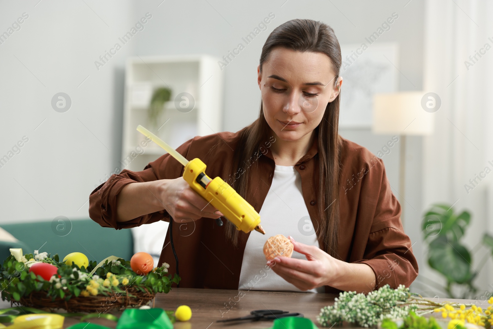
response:
[[[265,119],[284,141],[309,138],[342,84],[327,55],[284,47],[274,48],[257,72]]]

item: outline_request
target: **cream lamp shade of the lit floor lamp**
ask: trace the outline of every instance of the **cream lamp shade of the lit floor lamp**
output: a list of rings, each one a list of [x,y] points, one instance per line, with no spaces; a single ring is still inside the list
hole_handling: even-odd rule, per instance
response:
[[[433,113],[422,107],[423,91],[374,94],[372,131],[377,134],[429,135]]]

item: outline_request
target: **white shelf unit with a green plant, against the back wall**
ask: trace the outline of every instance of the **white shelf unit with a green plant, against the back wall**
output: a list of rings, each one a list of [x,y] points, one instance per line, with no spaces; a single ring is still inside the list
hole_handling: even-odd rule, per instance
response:
[[[145,137],[136,130],[139,124],[174,148],[195,136],[221,131],[223,74],[218,61],[209,55],[140,56],[127,60],[120,168],[141,171],[165,153],[152,142],[142,153],[138,146]],[[170,88],[171,97],[153,125],[147,108],[153,91],[159,87]],[[183,92],[192,95],[195,101],[188,112],[178,110],[175,102],[176,96]],[[134,155],[142,154],[132,157],[132,151]]]

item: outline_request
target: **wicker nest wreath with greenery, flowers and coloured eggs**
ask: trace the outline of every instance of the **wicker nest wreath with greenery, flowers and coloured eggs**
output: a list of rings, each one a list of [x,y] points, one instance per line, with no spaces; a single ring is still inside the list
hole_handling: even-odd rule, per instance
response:
[[[11,305],[69,313],[122,310],[147,305],[156,293],[169,292],[180,280],[168,274],[167,263],[153,267],[152,257],[145,253],[138,254],[148,257],[139,255],[139,259],[136,254],[128,261],[110,256],[100,263],[81,253],[64,261],[37,251],[22,255],[22,250],[13,249],[11,253],[0,269],[1,297]]]

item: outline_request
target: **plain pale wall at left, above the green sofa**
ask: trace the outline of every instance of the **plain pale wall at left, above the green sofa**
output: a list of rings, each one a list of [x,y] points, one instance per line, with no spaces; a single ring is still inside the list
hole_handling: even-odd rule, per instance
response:
[[[1,222],[87,218],[89,193],[121,147],[122,68],[134,45],[99,71],[94,61],[141,13],[120,1],[36,3],[0,3],[1,33],[29,15],[0,45],[0,156],[29,138],[0,168]],[[51,107],[58,92],[72,101],[64,113]]]

